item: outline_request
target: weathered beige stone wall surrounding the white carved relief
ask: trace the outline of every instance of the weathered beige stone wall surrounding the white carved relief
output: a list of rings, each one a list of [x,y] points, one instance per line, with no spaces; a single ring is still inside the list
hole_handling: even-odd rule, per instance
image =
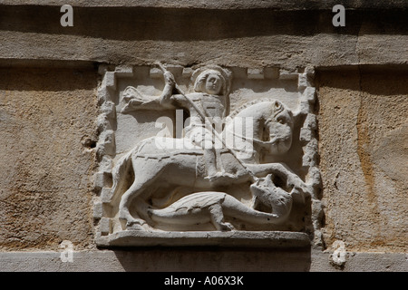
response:
[[[335,2],[73,1],[62,27],[65,3],[3,1],[0,271],[407,271],[408,6],[346,1],[334,27]],[[157,60],[315,69],[323,247],[96,247],[99,73]],[[73,264],[63,240],[81,251]],[[337,240],[342,268],[329,259]]]

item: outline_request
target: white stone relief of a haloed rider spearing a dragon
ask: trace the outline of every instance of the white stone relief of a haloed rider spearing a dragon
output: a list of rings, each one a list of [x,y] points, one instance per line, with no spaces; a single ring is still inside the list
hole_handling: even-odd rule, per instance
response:
[[[139,86],[131,83],[133,68],[103,72],[100,172],[95,176],[101,196],[94,214],[100,244],[110,245],[118,233],[318,234],[320,180],[311,73],[264,78],[262,93],[250,93],[233,86],[232,70],[218,65],[173,71],[158,63],[150,69],[154,83]],[[179,84],[175,74],[179,79],[190,75],[190,80]],[[248,70],[246,82],[252,89],[258,74]],[[118,76],[125,80],[121,85]],[[290,98],[267,91],[268,82],[287,85]],[[131,144],[130,134],[121,128],[142,114],[159,117],[155,128],[167,114],[170,126]],[[175,119],[177,128],[171,126]],[[139,126],[143,121],[136,122]],[[118,150],[115,140],[126,144],[126,150]]]

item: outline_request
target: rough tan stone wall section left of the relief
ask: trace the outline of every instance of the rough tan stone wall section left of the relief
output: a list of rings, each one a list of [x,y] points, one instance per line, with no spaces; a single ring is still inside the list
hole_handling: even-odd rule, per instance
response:
[[[96,73],[0,70],[0,250],[92,246]]]

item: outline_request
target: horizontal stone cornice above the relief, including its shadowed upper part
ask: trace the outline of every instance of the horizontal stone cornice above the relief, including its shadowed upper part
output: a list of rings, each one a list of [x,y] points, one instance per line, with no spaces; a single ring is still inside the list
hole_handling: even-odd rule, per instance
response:
[[[382,1],[349,1],[345,27],[333,26],[333,5],[325,1],[291,1],[289,7],[285,1],[239,1],[240,9],[232,1],[115,1],[116,7],[105,7],[113,3],[108,1],[77,1],[73,27],[61,26],[57,5],[62,2],[52,2],[2,5],[0,63],[151,65],[160,60],[296,70],[307,65],[406,64],[408,59],[402,1],[387,3],[388,9],[381,7]],[[360,5],[375,9],[351,9]]]

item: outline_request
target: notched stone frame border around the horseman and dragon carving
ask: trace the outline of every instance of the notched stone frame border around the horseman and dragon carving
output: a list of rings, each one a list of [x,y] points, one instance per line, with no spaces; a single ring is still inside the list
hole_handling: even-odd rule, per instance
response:
[[[113,102],[117,90],[117,80],[122,77],[132,77],[134,69],[132,66],[116,66],[100,65],[99,74],[101,82],[98,87],[97,98],[100,114],[97,118],[97,130],[99,140],[97,142],[96,160],[98,162],[97,172],[93,176],[93,191],[95,192],[93,201],[93,223],[95,228],[95,241],[98,247],[115,247],[115,246],[184,246],[184,239],[188,238],[189,243],[186,245],[194,246],[249,246],[249,247],[305,247],[313,245],[321,247],[323,245],[321,234],[321,223],[323,218],[323,205],[321,202],[321,177],[318,169],[318,143],[317,143],[317,117],[315,113],[316,88],[314,87],[315,70],[313,67],[306,67],[301,73],[287,72],[279,68],[247,68],[244,69],[246,77],[252,80],[259,79],[279,79],[279,80],[297,80],[297,91],[299,93],[300,111],[306,115],[306,119],[300,130],[300,141],[304,151],[302,166],[308,172],[306,175],[306,184],[313,188],[311,194],[311,221],[312,228],[306,228],[307,233],[298,232],[270,232],[275,233],[272,236],[265,236],[266,232],[261,236],[261,242],[254,244],[255,240],[259,239],[256,232],[245,232],[246,235],[230,233],[212,233],[205,232],[204,237],[190,237],[187,233],[182,237],[171,237],[171,241],[162,239],[162,235],[148,233],[146,235],[131,234],[127,237],[133,238],[133,242],[115,244],[115,239],[126,237],[109,237],[112,236],[112,220],[106,218],[110,210],[109,202],[111,201],[112,187],[112,160],[115,155],[115,133],[113,131],[114,122],[116,119],[116,108]],[[181,68],[182,76],[189,77],[192,73],[190,68]],[[161,71],[157,68],[151,68],[151,78],[160,77]],[[279,236],[279,233],[280,236]],[[303,235],[302,235],[303,234]],[[141,237],[143,236],[143,237]],[[207,238],[205,238],[207,237]],[[215,242],[209,242],[208,237],[213,237]],[[235,237],[235,238],[234,238]],[[245,238],[244,238],[245,237]],[[264,237],[262,239],[262,237]],[[143,239],[144,238],[144,239]],[[179,239],[178,239],[179,238]],[[232,242],[222,243],[219,239]],[[141,242],[138,242],[138,239]],[[271,239],[275,242],[271,243]],[[286,241],[282,243],[281,240]],[[143,242],[144,240],[144,242]],[[158,241],[158,242],[155,242]],[[290,241],[297,241],[295,243]],[[235,241],[235,242],[234,242]],[[263,241],[263,242],[262,242]],[[280,242],[279,242],[280,241]],[[129,244],[129,245],[127,245]]]

